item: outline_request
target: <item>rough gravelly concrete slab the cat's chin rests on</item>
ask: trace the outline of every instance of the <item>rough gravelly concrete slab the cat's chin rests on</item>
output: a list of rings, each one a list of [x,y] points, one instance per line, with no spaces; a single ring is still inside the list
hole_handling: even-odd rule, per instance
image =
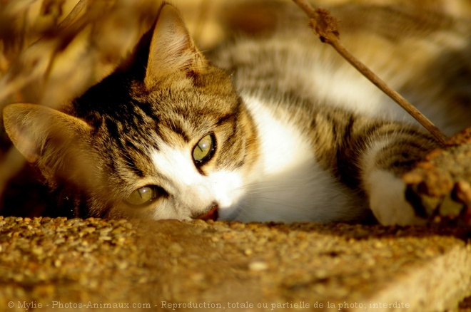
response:
[[[471,295],[469,240],[466,228],[0,217],[0,310],[443,311]]]

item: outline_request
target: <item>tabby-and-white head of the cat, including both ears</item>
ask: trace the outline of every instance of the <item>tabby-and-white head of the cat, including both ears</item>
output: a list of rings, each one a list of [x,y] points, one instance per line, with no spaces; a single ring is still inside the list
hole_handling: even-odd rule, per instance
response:
[[[4,125],[82,217],[226,219],[258,155],[231,80],[169,4],[111,76],[61,111],[9,105]]]

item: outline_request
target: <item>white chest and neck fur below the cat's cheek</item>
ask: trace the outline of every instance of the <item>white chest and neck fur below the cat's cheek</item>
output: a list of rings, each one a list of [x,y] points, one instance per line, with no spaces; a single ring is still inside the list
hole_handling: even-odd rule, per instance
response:
[[[221,217],[243,222],[330,222],[358,217],[364,207],[347,187],[320,168],[305,135],[289,120],[275,118],[257,99],[245,98],[245,103],[258,130],[260,160],[243,182],[243,198],[221,209]]]

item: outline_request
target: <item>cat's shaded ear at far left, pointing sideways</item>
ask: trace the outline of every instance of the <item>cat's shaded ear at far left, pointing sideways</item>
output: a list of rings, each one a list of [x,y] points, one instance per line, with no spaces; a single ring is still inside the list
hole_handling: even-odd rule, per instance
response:
[[[93,185],[93,153],[87,141],[92,128],[84,120],[34,104],[7,105],[3,118],[11,142],[48,183],[60,177]]]

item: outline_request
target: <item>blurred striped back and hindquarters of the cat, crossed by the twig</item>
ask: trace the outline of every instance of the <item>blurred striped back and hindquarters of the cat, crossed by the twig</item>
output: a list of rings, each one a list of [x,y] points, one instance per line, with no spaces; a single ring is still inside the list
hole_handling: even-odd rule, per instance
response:
[[[282,114],[306,113],[304,104],[340,107],[367,115],[411,120],[332,47],[321,43],[297,7],[262,36],[239,36],[219,48],[243,98],[258,98]],[[445,132],[469,125],[471,92],[469,19],[414,5],[345,4],[330,8],[340,39],[390,86]],[[294,107],[293,107],[294,105]],[[450,109],[452,108],[452,109]]]

